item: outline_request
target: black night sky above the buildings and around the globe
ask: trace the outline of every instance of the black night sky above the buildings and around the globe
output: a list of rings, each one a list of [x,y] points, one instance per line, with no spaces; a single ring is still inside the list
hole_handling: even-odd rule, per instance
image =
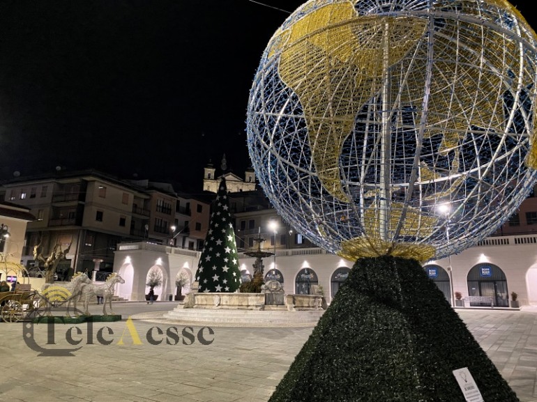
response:
[[[303,2],[0,0],[0,179],[94,168],[195,192],[223,153],[242,177],[252,79]]]

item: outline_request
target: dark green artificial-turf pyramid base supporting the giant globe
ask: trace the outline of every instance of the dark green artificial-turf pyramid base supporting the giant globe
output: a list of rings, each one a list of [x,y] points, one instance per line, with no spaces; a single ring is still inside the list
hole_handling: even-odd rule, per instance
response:
[[[269,402],[464,402],[463,367],[519,401],[418,261],[361,258]]]

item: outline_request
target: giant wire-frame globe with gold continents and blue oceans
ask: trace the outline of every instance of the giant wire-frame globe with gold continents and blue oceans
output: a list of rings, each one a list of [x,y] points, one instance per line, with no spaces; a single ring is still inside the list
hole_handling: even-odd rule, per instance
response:
[[[507,1],[308,1],[250,91],[260,185],[298,231],[353,261],[461,252],[536,182],[536,61]]]

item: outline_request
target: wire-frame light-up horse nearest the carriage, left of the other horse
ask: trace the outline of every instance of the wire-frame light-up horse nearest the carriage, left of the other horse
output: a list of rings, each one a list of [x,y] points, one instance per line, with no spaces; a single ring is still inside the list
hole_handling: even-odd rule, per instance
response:
[[[80,297],[80,295],[82,295],[84,288],[92,283],[93,282],[86,274],[77,272],[75,275],[73,275],[68,284],[62,286],[55,284],[44,284],[38,295],[45,304],[46,315],[52,315],[51,308],[53,306],[62,305],[67,302],[66,316],[69,316],[69,307],[71,301],[75,302],[73,309],[76,309],[76,300]]]

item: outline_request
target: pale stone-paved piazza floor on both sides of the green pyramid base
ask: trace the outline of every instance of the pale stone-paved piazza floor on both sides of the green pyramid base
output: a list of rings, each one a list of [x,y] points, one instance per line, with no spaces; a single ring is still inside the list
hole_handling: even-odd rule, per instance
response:
[[[204,330],[198,337],[200,327],[193,327],[183,336],[182,326],[159,319],[175,306],[116,303],[122,321],[94,323],[92,330],[86,324],[55,325],[54,339],[45,324],[0,323],[0,401],[264,402],[312,331],[213,327],[213,334]],[[93,314],[99,307],[91,306]],[[457,312],[520,401],[537,402],[537,309]],[[127,321],[129,316],[134,319]],[[45,354],[80,349],[72,357],[38,356],[28,345]]]

